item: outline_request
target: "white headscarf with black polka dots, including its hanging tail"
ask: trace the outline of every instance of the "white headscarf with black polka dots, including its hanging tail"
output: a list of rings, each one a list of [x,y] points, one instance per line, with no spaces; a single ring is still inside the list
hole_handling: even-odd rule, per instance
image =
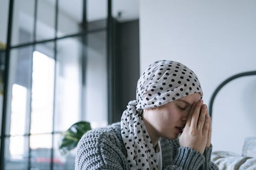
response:
[[[137,83],[136,101],[121,117],[121,135],[130,169],[158,169],[153,143],[142,120],[143,109],[162,106],[203,92],[196,74],[185,65],[161,60],[149,65]]]

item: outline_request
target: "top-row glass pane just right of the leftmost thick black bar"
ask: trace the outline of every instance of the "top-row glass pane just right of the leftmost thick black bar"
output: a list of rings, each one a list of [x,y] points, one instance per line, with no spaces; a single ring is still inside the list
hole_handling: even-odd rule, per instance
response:
[[[12,45],[32,42],[35,1],[14,1],[12,19]]]

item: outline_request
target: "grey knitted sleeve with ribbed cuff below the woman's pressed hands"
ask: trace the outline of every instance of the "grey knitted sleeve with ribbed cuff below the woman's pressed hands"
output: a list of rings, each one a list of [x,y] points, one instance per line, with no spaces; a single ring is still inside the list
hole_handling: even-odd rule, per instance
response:
[[[210,161],[211,150],[206,149],[205,155],[188,148],[180,147],[178,140],[161,140],[163,169],[209,169],[217,170],[218,167]]]

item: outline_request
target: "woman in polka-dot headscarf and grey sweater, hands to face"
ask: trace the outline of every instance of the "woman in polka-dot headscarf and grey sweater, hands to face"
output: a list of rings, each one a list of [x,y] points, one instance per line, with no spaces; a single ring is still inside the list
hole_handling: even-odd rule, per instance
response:
[[[156,61],[137,84],[121,122],[83,135],[76,169],[218,169],[210,161],[210,117],[195,73]]]

